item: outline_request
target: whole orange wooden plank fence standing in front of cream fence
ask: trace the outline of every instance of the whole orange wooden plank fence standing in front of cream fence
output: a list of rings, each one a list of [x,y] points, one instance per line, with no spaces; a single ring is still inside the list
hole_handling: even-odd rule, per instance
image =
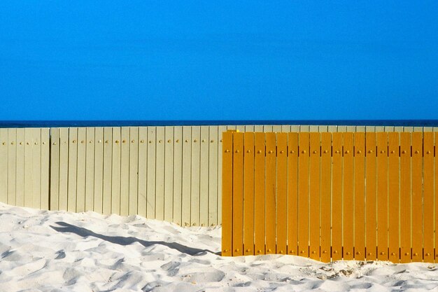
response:
[[[438,262],[435,141],[434,132],[225,132],[222,256]]]

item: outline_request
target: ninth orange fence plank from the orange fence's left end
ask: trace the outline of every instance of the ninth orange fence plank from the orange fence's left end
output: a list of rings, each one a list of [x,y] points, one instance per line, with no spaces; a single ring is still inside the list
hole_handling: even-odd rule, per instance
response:
[[[318,129],[313,128],[317,131]],[[310,257],[320,259],[320,133],[310,133]]]

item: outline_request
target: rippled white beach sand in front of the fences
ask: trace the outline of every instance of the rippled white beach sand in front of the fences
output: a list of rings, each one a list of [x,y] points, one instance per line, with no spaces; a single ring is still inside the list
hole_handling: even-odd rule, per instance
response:
[[[433,264],[222,258],[220,232],[0,203],[0,291],[438,291]]]

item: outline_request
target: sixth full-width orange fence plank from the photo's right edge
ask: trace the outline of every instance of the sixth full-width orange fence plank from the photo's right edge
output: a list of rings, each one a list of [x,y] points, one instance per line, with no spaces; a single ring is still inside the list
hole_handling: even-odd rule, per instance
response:
[[[376,216],[376,133],[367,132],[366,141],[366,258],[376,260],[377,251],[377,216]]]

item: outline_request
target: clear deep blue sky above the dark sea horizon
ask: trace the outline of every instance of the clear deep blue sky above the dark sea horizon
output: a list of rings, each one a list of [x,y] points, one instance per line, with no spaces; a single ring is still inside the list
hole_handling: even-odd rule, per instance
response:
[[[0,120],[437,118],[436,0],[0,1]]]

